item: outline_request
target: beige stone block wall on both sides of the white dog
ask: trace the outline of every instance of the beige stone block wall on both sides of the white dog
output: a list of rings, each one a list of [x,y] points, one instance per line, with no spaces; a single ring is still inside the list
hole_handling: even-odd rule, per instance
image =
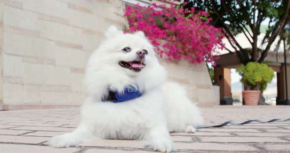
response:
[[[109,25],[125,25],[115,14],[122,14],[124,7],[121,0],[1,0],[3,104],[81,104],[86,96],[87,58]],[[163,63],[170,78],[186,85],[194,101],[211,101],[208,95],[213,91],[204,64]]]

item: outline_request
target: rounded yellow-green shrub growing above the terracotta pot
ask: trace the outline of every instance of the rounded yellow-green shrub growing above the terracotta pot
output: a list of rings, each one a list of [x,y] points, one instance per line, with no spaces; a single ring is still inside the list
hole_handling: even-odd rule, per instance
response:
[[[266,89],[267,83],[271,82],[274,77],[274,70],[266,64],[249,62],[246,66],[242,65],[236,69],[237,73],[242,76],[241,82],[251,87],[251,90],[262,92]]]

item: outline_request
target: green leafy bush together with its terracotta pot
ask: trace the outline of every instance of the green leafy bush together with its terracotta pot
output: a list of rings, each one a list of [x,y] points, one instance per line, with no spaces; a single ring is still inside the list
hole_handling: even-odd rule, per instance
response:
[[[240,81],[250,89],[242,92],[245,105],[258,105],[260,93],[274,77],[273,69],[266,64],[249,62],[236,70],[242,76]]]

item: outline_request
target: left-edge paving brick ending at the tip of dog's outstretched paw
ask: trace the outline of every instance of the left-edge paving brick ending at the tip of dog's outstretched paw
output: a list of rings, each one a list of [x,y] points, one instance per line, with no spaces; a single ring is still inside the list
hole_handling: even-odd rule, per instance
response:
[[[47,137],[0,135],[0,142],[5,143],[39,144],[44,141],[47,141]]]

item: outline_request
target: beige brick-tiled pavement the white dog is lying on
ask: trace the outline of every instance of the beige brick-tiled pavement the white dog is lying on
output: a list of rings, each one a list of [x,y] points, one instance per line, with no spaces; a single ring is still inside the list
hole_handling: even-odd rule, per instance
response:
[[[0,111],[0,153],[150,153],[144,142],[97,140],[74,148],[50,148],[49,137],[72,131],[78,109]],[[231,120],[290,118],[290,106],[202,108],[205,125]],[[290,121],[203,128],[171,133],[178,153],[290,153]]]

